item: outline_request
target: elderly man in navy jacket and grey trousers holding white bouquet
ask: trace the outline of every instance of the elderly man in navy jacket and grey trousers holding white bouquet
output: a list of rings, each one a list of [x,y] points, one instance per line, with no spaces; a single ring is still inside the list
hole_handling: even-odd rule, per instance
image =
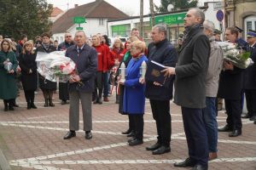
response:
[[[76,136],[79,130],[79,100],[81,100],[84,120],[85,139],[91,139],[91,99],[97,69],[97,52],[85,43],[84,31],[77,31],[74,37],[76,45],[67,48],[66,56],[73,59],[77,74],[69,79],[69,132],[64,139]]]

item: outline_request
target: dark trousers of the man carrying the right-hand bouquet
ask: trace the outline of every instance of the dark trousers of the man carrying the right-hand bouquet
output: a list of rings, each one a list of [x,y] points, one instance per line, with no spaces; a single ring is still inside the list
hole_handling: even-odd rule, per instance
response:
[[[225,99],[227,124],[233,129],[241,129],[241,102],[240,99]]]

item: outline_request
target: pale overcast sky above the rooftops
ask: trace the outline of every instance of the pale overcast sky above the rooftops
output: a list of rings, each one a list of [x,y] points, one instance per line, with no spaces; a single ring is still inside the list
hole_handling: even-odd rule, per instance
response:
[[[91,3],[95,0],[47,0],[48,3],[54,4],[54,7],[61,8],[62,10],[67,10],[67,8],[74,8],[74,4],[82,5],[84,3]],[[105,0],[106,2],[112,4],[114,7],[119,8],[123,12],[129,15],[138,15],[140,11],[140,0]],[[203,2],[210,0],[199,0],[200,6]],[[214,0],[211,0],[214,1]],[[215,0],[220,1],[220,0]],[[154,0],[156,5],[160,5],[160,0]],[[149,0],[144,0],[144,14],[149,13]]]

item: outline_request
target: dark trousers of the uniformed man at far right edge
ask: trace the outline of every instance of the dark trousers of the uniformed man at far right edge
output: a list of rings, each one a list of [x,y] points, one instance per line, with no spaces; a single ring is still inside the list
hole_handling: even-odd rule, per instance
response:
[[[256,89],[245,90],[248,116],[256,116]]]

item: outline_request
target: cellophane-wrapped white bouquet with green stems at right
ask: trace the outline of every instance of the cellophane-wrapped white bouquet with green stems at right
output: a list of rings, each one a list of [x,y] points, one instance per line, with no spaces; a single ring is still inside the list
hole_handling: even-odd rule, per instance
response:
[[[249,65],[253,65],[250,59],[250,52],[246,52],[239,48],[235,43],[218,42],[223,50],[224,60],[230,61],[238,68],[246,69]]]

